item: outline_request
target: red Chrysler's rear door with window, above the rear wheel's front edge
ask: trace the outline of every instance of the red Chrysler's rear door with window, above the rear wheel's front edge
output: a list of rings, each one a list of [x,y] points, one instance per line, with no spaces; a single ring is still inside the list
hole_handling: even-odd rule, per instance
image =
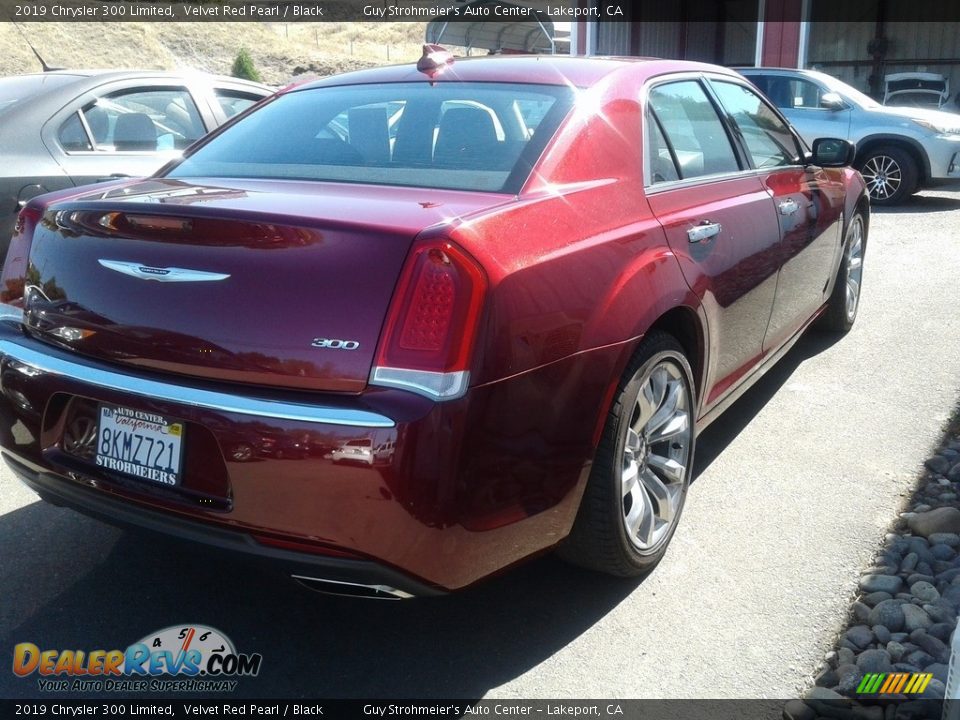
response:
[[[780,228],[702,77],[656,81],[645,118],[647,197],[707,314],[705,411],[760,358]]]

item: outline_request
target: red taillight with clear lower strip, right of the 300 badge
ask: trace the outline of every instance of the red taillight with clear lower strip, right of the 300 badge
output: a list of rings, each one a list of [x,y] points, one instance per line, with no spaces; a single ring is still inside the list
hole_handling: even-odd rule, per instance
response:
[[[435,400],[463,395],[486,288],[483,270],[453,243],[416,246],[387,313],[370,384]]]

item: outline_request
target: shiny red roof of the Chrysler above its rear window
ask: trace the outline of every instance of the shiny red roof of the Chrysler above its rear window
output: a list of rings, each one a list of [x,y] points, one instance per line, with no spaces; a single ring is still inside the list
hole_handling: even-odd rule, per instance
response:
[[[435,82],[499,82],[590,87],[618,70],[642,65],[650,76],[665,72],[711,71],[735,75],[716,65],[645,57],[571,57],[569,55],[495,55],[456,58]],[[294,90],[337,85],[416,82],[427,80],[415,64],[391,65],[331,75]]]

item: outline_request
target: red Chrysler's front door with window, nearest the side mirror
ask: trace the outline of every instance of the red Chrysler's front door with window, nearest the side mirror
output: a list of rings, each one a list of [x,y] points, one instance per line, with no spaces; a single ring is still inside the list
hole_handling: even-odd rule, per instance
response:
[[[793,335],[826,299],[839,259],[844,191],[822,169],[804,166],[804,148],[752,88],[716,77],[710,85],[780,223],[780,273],[766,351]]]

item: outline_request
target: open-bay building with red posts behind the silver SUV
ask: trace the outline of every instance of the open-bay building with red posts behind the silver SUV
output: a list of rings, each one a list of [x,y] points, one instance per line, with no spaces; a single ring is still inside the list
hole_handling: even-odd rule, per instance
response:
[[[579,0],[582,7],[607,0]],[[624,3],[627,21],[571,24],[576,55],[639,55],[719,65],[815,68],[874,97],[898,72],[960,91],[960,14],[947,0],[678,0]],[[949,17],[952,14],[953,17]]]

